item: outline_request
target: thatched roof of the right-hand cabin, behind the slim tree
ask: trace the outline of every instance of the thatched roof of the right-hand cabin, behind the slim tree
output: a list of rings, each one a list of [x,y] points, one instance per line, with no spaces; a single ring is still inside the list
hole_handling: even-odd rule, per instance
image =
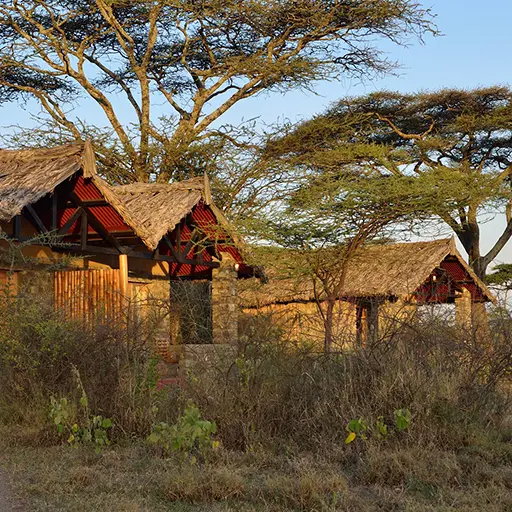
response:
[[[286,270],[285,260],[290,256],[283,254],[275,259],[276,264],[273,267],[266,266],[268,284],[243,283],[241,303],[246,307],[260,307],[314,300],[312,279],[292,278],[290,272]],[[453,238],[432,242],[369,245],[361,249],[349,260],[340,296],[410,296],[449,256],[464,267],[486,300],[494,300],[486,285],[457,251]]]

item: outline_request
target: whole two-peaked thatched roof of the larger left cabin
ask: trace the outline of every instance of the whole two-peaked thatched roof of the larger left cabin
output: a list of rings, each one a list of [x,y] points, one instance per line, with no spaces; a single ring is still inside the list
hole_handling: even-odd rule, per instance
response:
[[[227,224],[211,204],[206,177],[173,184],[111,187],[97,175],[90,142],[51,149],[0,150],[0,220],[11,220],[80,170],[151,250],[201,200],[210,205],[220,223]]]

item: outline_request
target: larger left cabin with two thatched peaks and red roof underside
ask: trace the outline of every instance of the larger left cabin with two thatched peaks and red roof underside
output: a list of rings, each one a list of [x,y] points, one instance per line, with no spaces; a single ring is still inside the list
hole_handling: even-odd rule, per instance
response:
[[[0,229],[0,280],[11,289],[49,294],[73,318],[111,321],[141,314],[128,302],[171,303],[170,281],[202,282],[214,341],[236,340],[235,281],[254,271],[206,177],[111,187],[89,143],[0,150]],[[12,258],[16,247],[22,261]],[[177,331],[171,313],[162,316],[165,343]]]

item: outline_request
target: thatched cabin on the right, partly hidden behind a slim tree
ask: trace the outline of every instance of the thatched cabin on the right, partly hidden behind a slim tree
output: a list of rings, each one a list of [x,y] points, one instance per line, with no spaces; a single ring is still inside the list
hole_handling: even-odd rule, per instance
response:
[[[292,276],[290,259],[297,264],[297,257],[276,253],[274,265],[266,267],[268,283],[242,283],[242,307],[249,315],[272,315],[290,339],[321,343],[325,329],[319,307],[325,311],[326,290],[314,272]],[[368,245],[349,258],[337,290],[334,344],[385,337],[425,305],[454,304],[457,321],[469,327],[479,320],[479,305],[494,300],[453,239]]]

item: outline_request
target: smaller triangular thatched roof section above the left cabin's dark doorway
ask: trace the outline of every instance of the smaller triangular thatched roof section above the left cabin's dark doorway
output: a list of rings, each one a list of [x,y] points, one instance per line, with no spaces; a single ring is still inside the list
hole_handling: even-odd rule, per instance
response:
[[[162,237],[173,231],[201,200],[211,205],[206,176],[170,184],[133,183],[112,190],[150,249],[156,249]]]

